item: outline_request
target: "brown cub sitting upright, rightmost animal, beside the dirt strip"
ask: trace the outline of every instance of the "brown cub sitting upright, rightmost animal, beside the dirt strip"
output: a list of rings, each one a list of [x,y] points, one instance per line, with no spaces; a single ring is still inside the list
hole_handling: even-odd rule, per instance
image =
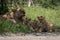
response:
[[[41,27],[42,28],[42,30],[41,30],[42,32],[47,32],[47,31],[48,32],[53,32],[54,31],[53,24],[48,23],[44,16],[39,16],[38,20],[39,20],[39,22],[42,25],[42,27]]]

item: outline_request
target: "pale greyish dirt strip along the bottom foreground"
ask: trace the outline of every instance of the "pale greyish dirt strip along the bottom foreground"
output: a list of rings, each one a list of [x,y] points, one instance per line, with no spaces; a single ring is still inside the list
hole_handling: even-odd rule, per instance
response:
[[[0,40],[60,40],[60,33],[17,33],[0,35]]]

